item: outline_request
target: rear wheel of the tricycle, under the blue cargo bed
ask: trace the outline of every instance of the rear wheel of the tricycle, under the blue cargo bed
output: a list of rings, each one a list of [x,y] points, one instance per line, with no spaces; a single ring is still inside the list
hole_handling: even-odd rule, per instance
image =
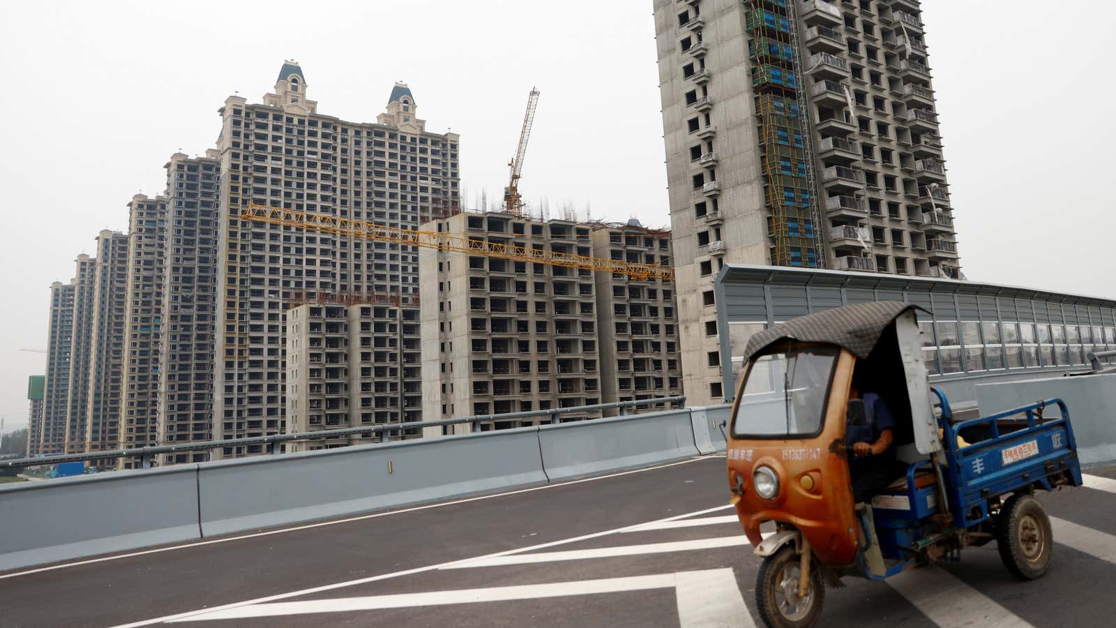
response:
[[[1042,504],[1024,494],[1008,497],[995,520],[995,544],[1003,567],[1016,578],[1042,578],[1054,550],[1050,517]]]

